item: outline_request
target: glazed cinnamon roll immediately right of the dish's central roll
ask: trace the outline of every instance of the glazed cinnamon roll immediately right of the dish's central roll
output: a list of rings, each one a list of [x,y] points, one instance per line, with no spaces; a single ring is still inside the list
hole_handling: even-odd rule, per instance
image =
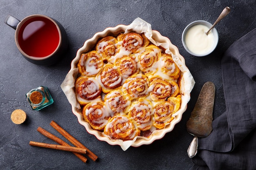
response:
[[[171,96],[172,86],[164,79],[155,79],[150,82],[150,96],[153,101],[166,100]]]

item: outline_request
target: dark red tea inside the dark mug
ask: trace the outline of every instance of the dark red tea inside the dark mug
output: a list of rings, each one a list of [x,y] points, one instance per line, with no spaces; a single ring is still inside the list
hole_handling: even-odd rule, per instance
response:
[[[52,54],[57,48],[59,40],[56,25],[43,17],[27,20],[18,33],[20,48],[32,57],[45,57]]]

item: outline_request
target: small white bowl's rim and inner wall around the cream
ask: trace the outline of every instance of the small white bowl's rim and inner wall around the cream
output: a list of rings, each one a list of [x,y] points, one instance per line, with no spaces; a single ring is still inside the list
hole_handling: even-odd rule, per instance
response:
[[[194,53],[192,51],[189,50],[189,48],[187,47],[186,43],[185,43],[185,39],[186,39],[186,33],[187,31],[192,27],[192,26],[195,26],[195,25],[198,25],[198,24],[201,24],[201,25],[204,25],[204,26],[207,26],[209,29],[211,28],[212,24],[210,22],[207,22],[207,21],[204,21],[204,20],[198,20],[198,21],[194,21],[194,22],[191,22],[188,26],[186,26],[186,28],[184,29],[183,33],[182,33],[182,44],[184,46],[184,48],[186,49],[186,51],[188,53],[190,53],[191,55],[194,55],[194,56],[198,56],[198,57],[202,57],[202,56],[206,56],[206,55],[209,55],[211,52],[213,52],[213,50],[216,48],[217,44],[218,44],[218,40],[219,40],[219,35],[218,35],[218,32],[216,30],[216,28],[213,28],[211,30],[211,32],[213,33],[213,45],[211,47],[211,49],[209,49],[209,51],[207,51],[206,53],[201,53],[201,54],[197,54],[197,53]]]

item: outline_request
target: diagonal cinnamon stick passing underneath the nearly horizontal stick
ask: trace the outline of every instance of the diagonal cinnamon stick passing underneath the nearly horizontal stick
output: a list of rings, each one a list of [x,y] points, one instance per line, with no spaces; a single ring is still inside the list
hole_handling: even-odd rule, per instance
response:
[[[42,135],[44,135],[45,137],[48,137],[49,139],[52,139],[53,141],[57,142],[60,145],[63,146],[70,146],[69,144],[67,144],[65,141],[61,140],[60,138],[56,137],[55,135],[52,135],[52,133],[48,132],[47,130],[38,127],[37,131],[40,132]],[[83,161],[84,163],[86,163],[87,158],[84,157],[83,155],[73,152],[74,155],[76,155],[79,159],[81,159],[81,161]]]

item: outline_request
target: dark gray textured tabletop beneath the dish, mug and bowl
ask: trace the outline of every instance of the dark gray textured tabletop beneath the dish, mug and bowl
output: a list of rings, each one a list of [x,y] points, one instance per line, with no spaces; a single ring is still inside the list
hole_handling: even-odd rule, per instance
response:
[[[216,50],[205,57],[189,55],[181,42],[186,25],[195,20],[213,23],[226,6],[231,8],[231,13],[216,26],[219,33]],[[188,170],[193,162],[186,150],[193,137],[186,131],[186,121],[202,85],[207,81],[216,85],[213,117],[225,111],[220,61],[232,43],[256,27],[255,7],[255,0],[1,0],[0,169]],[[69,39],[69,49],[63,59],[53,66],[38,66],[25,60],[16,48],[15,30],[4,24],[9,14],[20,20],[31,14],[44,14],[58,20]],[[107,27],[128,25],[137,17],[149,22],[152,29],[168,37],[178,47],[196,84],[188,108],[173,131],[150,145],[123,151],[120,146],[99,141],[78,123],[60,85],[70,70],[76,51],[85,40]],[[49,88],[54,104],[34,111],[25,94],[41,85]],[[12,123],[10,116],[15,109],[27,113],[24,124]],[[29,146],[29,141],[54,144],[37,132],[38,126],[64,139],[49,125],[52,120],[94,152],[99,157],[98,161],[88,159],[83,163],[70,152]]]

